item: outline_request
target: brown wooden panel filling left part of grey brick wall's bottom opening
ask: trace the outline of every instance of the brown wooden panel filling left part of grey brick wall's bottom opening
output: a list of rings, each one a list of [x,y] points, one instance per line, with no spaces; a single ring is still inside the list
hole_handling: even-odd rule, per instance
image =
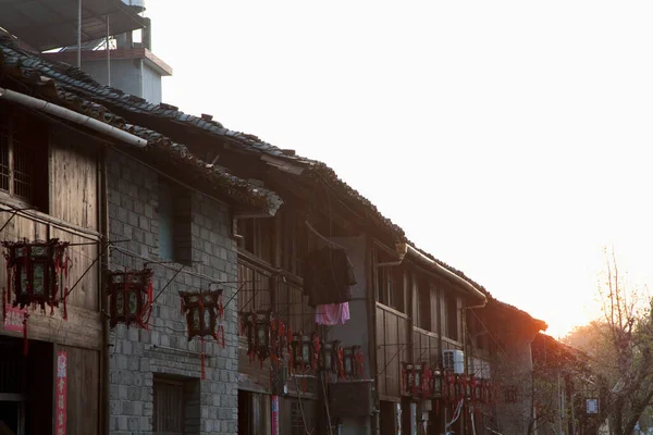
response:
[[[157,435],[184,432],[184,383],[156,377],[152,430]]]

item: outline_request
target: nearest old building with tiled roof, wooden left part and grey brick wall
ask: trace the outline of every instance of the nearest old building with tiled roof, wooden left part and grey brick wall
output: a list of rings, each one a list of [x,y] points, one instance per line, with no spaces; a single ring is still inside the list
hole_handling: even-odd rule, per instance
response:
[[[94,84],[78,70],[21,50],[7,35],[0,54],[2,121],[10,125],[2,145],[11,157],[3,161],[13,176],[3,196],[7,219],[13,219],[3,236],[72,244],[67,321],[58,310],[51,316],[30,314],[27,357],[20,353],[22,331],[3,331],[10,338],[3,337],[0,359],[10,370],[26,372],[22,383],[0,383],[0,398],[12,401],[2,408],[2,420],[12,427],[26,424],[27,433],[52,430],[59,403],[42,388],[52,390],[52,361],[66,352],[67,409],[61,419],[67,433],[236,433],[238,274],[232,216],[272,216],[279,197],[202,162],[180,142],[125,123],[94,102],[95,94],[123,94]],[[32,162],[22,157],[23,147],[34,153]],[[143,311],[131,327],[119,320],[110,332],[115,310],[102,297],[110,272],[127,271],[130,277],[145,270],[151,271],[151,303],[143,301],[149,304],[138,307]],[[218,289],[224,300],[222,343],[209,337],[200,346],[187,338],[180,291]],[[42,359],[49,370],[30,368]],[[38,406],[26,410],[24,399]]]

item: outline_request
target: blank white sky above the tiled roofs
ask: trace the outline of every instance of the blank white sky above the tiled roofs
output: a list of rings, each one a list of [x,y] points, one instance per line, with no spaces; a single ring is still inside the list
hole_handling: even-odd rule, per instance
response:
[[[321,160],[560,336],[653,283],[651,2],[147,0],[163,101]]]

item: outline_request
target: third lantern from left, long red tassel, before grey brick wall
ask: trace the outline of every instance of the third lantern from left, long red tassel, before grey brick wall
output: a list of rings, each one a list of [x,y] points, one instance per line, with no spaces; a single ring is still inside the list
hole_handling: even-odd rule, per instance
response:
[[[205,337],[213,337],[218,343],[222,339],[225,347],[224,326],[222,325],[222,289],[212,291],[180,291],[182,312],[186,313],[188,341],[194,337],[200,339],[201,378],[205,378]],[[220,336],[219,336],[220,334]]]

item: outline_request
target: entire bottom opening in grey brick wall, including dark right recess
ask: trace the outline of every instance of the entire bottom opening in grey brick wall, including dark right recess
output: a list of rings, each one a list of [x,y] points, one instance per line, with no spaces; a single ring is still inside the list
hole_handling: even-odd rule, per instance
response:
[[[155,374],[153,381],[153,434],[199,434],[199,380]]]

